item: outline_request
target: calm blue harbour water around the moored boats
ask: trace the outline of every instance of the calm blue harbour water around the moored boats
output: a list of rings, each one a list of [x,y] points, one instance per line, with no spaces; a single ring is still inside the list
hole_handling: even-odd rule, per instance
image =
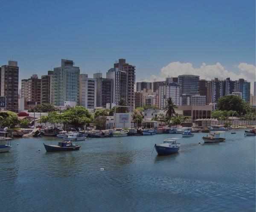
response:
[[[255,211],[255,137],[227,132],[200,145],[203,135],[161,157],[154,144],[180,134],[89,138],[53,153],[43,143],[58,138],[15,139],[0,154],[0,211]]]

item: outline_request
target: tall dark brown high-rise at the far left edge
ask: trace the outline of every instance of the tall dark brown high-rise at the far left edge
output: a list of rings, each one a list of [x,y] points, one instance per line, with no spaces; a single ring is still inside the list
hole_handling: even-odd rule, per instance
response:
[[[18,112],[19,67],[17,61],[9,61],[1,67],[1,95],[6,96],[6,110]]]

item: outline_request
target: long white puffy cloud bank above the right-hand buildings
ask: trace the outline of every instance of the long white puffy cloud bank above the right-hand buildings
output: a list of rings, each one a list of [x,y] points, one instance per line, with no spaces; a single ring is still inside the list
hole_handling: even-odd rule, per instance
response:
[[[230,77],[231,80],[244,78],[247,81],[255,81],[255,66],[247,63],[238,65],[239,73],[234,73],[225,69],[219,62],[213,65],[203,63],[200,67],[195,68],[191,63],[172,62],[161,69],[160,75],[152,75],[149,79],[143,81],[163,81],[166,77],[177,77],[182,74],[192,74],[200,76],[200,79],[211,80],[214,78],[225,79]]]

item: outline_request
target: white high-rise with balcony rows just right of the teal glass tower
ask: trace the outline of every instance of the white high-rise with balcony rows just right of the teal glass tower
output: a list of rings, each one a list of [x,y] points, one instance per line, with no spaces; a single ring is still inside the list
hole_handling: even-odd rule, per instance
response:
[[[79,74],[79,105],[94,109],[96,107],[97,79]]]

